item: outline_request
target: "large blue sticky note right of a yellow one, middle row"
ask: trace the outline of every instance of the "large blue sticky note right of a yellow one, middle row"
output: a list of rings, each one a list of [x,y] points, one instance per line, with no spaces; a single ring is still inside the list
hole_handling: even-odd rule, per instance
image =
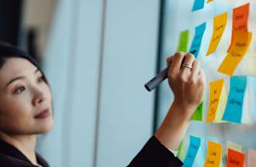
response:
[[[241,123],[244,93],[247,87],[246,76],[234,76],[230,78],[230,93],[227,98],[227,105],[223,114],[224,121]]]

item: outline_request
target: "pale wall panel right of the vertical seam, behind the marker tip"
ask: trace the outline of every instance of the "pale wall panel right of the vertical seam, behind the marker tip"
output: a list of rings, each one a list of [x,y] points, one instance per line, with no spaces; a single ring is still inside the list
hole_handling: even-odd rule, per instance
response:
[[[109,0],[96,166],[126,166],[152,135],[159,1]]]

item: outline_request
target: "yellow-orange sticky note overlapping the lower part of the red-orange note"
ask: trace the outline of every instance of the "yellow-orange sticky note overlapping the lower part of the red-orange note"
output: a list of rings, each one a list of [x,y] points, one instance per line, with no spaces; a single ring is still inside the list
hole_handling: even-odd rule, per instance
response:
[[[236,70],[237,65],[243,59],[250,46],[251,37],[251,32],[237,32],[234,35],[233,46],[231,46],[230,52],[227,53],[227,56],[218,68],[220,73],[225,73],[229,76],[234,74],[234,70]]]

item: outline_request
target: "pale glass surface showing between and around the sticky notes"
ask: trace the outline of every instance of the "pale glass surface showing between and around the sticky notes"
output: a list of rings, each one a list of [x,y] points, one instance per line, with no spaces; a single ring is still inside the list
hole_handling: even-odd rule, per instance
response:
[[[189,30],[189,43],[188,51],[192,44],[192,39],[195,36],[195,27],[206,22],[206,31],[202,36],[202,45],[199,50],[198,60],[202,65],[202,69],[206,72],[206,96],[203,103],[203,121],[192,121],[189,131],[186,135],[184,145],[185,148],[189,145],[189,135],[195,135],[202,138],[205,141],[202,144],[202,150],[197,156],[198,161],[195,162],[195,166],[202,166],[206,156],[207,139],[215,138],[220,141],[225,147],[227,141],[234,141],[243,146],[243,151],[247,152],[248,148],[256,148],[256,126],[255,126],[255,94],[247,93],[244,97],[244,114],[243,120],[245,124],[206,124],[205,118],[209,108],[209,82],[219,80],[223,78],[226,84],[226,91],[230,89],[230,77],[219,73],[217,71],[220,63],[227,55],[227,49],[230,46],[231,32],[232,32],[232,14],[233,9],[240,5],[250,3],[250,14],[249,14],[249,25],[248,31],[253,33],[251,45],[247,50],[244,59],[237,66],[237,70],[234,75],[256,75],[256,43],[255,43],[255,32],[256,32],[256,2],[254,0],[237,0],[237,1],[222,1],[213,0],[207,3],[205,1],[204,8],[198,11],[192,12],[192,6],[194,1],[189,0],[165,0],[164,1],[164,12],[163,12],[163,26],[162,26],[162,49],[161,49],[161,69],[166,66],[165,58],[171,56],[178,50],[180,32]],[[216,15],[220,15],[223,12],[228,12],[227,26],[223,32],[223,37],[220,40],[220,44],[216,51],[206,56],[206,52],[209,48],[209,43],[213,33],[213,18]],[[248,89],[254,89],[249,87]],[[162,83],[159,88],[159,99],[157,105],[157,126],[161,124],[164,116],[168,112],[168,108],[171,106],[173,101],[173,94],[168,87],[168,82]],[[253,101],[253,102],[251,102]],[[245,113],[250,112],[250,116]],[[246,116],[247,115],[247,116]],[[254,117],[254,121],[248,121],[247,118]],[[250,123],[248,123],[250,122]]]

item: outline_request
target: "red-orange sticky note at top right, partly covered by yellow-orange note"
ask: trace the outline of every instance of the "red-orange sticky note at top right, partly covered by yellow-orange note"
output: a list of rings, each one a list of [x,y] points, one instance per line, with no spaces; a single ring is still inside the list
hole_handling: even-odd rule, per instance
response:
[[[235,33],[237,31],[248,31],[248,15],[249,3],[247,3],[246,5],[241,5],[240,7],[233,10],[232,36],[228,51],[230,51],[230,48],[233,45]]]

